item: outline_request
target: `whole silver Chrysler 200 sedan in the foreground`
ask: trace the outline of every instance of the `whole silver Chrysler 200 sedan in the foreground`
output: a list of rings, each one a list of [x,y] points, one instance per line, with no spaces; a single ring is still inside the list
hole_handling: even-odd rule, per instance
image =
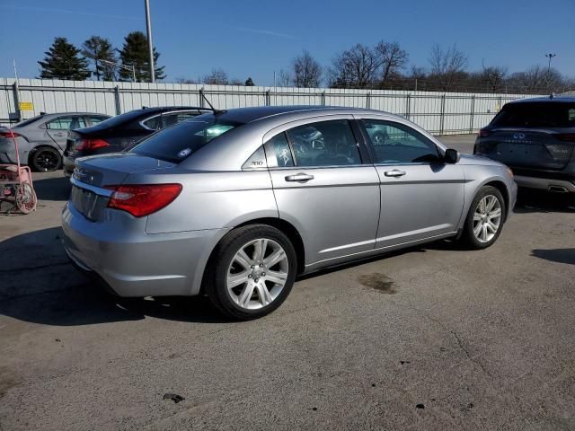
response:
[[[205,294],[240,320],[320,268],[442,238],[489,247],[517,193],[503,164],[401,117],[294,106],[204,114],[78,159],[71,181],[78,267],[118,295]]]

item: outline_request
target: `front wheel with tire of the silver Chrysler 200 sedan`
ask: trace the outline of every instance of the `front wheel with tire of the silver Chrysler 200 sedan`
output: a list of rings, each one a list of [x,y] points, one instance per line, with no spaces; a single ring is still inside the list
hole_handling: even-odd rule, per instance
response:
[[[482,187],[469,208],[462,241],[472,249],[486,249],[499,238],[505,214],[505,200],[500,190]]]

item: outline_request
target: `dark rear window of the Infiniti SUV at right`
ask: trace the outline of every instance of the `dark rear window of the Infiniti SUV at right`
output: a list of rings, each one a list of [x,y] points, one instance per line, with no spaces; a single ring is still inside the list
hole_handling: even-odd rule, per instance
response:
[[[500,128],[573,128],[575,103],[511,103],[503,107],[492,124]]]

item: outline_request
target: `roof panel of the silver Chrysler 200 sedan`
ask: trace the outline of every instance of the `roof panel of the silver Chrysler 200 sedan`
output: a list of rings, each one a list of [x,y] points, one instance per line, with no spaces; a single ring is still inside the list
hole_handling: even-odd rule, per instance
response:
[[[293,116],[305,118],[308,116],[320,116],[330,114],[366,114],[394,116],[381,110],[367,110],[362,108],[346,108],[341,106],[314,106],[314,105],[292,105],[292,106],[258,106],[252,108],[235,108],[221,111],[217,114],[219,119],[236,121],[238,123],[252,123],[261,119],[279,118],[283,116]]]

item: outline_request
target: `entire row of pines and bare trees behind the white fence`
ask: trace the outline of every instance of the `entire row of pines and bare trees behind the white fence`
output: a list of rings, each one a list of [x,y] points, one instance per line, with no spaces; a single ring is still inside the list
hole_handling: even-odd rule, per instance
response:
[[[40,64],[41,78],[84,80],[90,77],[104,81],[149,82],[147,38],[142,31],[132,31],[124,38],[122,48],[100,36],[85,40],[76,48],[66,38],[56,38]],[[154,48],[155,76],[166,77],[164,66],[157,66],[160,54]],[[509,73],[506,66],[486,65],[469,70],[468,56],[453,45],[432,46],[428,64],[410,64],[410,56],[398,42],[379,41],[374,46],[355,44],[338,52],[329,65],[321,65],[304,50],[292,58],[287,68],[275,75],[278,86],[415,90],[436,92],[509,92],[550,93],[575,88],[575,79],[549,66],[535,65],[525,71]],[[119,64],[121,66],[115,66]],[[179,84],[219,84],[252,86],[230,78],[222,68],[214,68],[198,79],[176,78]]]

